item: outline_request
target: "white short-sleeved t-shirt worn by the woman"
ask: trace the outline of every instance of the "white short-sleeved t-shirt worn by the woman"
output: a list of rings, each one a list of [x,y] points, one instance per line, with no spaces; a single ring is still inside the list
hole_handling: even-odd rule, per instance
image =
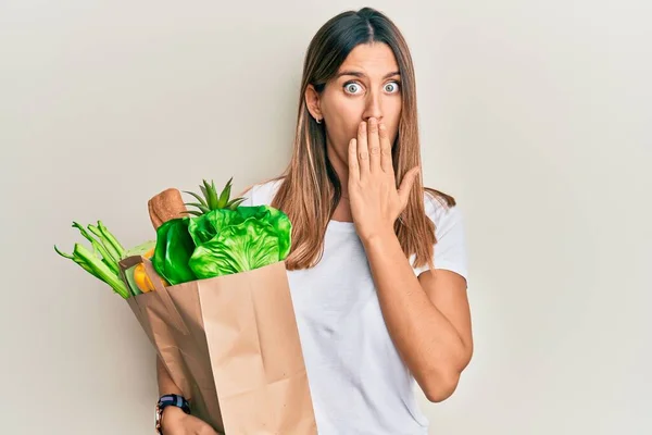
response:
[[[281,183],[254,185],[242,206],[271,204]],[[466,277],[460,211],[424,196],[436,225],[436,269]],[[427,434],[417,384],[387,331],[354,224],[330,221],[321,262],[288,271],[288,281],[319,435]]]

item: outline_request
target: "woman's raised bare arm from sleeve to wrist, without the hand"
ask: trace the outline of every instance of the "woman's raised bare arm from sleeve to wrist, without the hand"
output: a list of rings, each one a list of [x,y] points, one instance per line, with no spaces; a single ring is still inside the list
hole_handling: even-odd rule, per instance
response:
[[[417,278],[393,234],[364,245],[399,353],[428,399],[444,400],[473,353],[466,281],[442,270]]]

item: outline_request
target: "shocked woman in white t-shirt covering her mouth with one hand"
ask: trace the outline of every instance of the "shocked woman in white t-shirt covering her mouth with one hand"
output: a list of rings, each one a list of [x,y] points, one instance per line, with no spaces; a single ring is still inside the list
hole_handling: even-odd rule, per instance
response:
[[[414,382],[444,400],[472,357],[461,216],[422,187],[415,96],[392,22],[331,18],[306,53],[289,166],[243,194],[293,224],[286,265],[322,435],[427,434]],[[178,393],[161,366],[159,382]],[[175,407],[162,428],[214,434]]]

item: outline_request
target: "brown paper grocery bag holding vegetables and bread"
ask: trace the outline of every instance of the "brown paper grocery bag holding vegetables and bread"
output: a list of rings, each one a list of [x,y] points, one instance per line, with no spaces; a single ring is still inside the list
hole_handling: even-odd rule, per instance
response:
[[[192,413],[226,435],[316,434],[285,263],[127,299]]]

